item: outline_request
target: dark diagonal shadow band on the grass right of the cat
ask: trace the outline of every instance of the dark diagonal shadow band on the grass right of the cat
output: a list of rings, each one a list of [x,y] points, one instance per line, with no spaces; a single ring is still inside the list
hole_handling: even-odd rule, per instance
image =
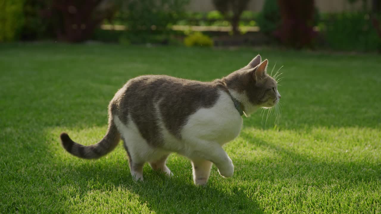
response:
[[[342,183],[370,182],[381,180],[381,165],[377,161],[368,161],[366,158],[354,161],[340,161],[335,158],[318,158],[312,155],[297,153],[292,147],[286,148],[271,142],[263,141],[242,132],[241,137],[246,141],[257,144],[258,147],[267,147],[280,158],[261,160],[251,164],[259,169],[267,169],[255,174],[254,179],[296,179],[313,182],[340,180]],[[237,165],[244,164],[243,160],[235,160]]]

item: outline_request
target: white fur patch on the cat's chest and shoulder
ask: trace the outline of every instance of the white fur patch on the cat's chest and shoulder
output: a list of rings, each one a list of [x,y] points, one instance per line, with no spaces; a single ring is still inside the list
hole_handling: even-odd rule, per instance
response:
[[[199,109],[189,117],[182,129],[182,137],[225,144],[237,137],[242,128],[242,117],[229,94],[220,92],[213,107]]]

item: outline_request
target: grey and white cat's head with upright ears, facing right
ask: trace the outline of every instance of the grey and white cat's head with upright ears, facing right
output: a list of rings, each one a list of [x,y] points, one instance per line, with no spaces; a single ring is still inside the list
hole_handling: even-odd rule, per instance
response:
[[[270,108],[280,100],[277,81],[267,74],[268,60],[256,56],[248,65],[225,78],[229,91],[247,114],[260,107]]]

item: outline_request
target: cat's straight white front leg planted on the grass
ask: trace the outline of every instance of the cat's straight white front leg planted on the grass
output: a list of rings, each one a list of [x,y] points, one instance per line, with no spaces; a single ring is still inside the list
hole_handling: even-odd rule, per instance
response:
[[[212,162],[204,159],[193,159],[193,181],[195,185],[205,185],[208,182]]]

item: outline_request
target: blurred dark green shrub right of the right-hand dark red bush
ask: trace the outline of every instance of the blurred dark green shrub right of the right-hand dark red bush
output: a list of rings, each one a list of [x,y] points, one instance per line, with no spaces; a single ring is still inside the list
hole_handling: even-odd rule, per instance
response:
[[[322,26],[329,48],[342,51],[381,50],[381,38],[366,13],[331,14]]]

